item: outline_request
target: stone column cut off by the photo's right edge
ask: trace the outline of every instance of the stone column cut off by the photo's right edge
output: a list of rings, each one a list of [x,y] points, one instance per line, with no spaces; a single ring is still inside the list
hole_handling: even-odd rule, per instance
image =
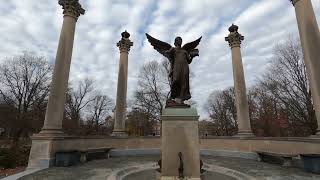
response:
[[[311,0],[290,0],[295,7],[304,62],[310,82],[320,137],[320,32]]]

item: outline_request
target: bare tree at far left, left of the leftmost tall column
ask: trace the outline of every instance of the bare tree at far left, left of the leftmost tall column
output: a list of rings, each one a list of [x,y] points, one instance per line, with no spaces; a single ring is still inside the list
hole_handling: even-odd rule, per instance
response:
[[[24,52],[7,58],[0,65],[0,96],[16,108],[15,137],[27,135],[32,128],[32,112],[46,103],[52,66],[44,57]],[[43,119],[39,122],[41,127]]]

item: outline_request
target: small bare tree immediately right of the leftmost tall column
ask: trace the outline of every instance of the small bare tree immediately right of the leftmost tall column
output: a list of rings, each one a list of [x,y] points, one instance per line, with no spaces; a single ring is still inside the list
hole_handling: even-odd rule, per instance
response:
[[[93,80],[79,81],[77,88],[70,88],[66,99],[66,117],[73,122],[71,128],[77,129],[80,125],[81,112],[94,99],[90,96],[93,91]],[[68,127],[70,128],[70,127]]]

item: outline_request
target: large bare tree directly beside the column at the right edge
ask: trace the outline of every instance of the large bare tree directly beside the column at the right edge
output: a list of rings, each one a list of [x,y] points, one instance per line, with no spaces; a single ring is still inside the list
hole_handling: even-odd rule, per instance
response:
[[[316,132],[315,111],[299,40],[288,39],[275,47],[272,65],[261,83],[288,111],[292,128],[299,127],[300,135]],[[301,127],[305,128],[304,132]]]

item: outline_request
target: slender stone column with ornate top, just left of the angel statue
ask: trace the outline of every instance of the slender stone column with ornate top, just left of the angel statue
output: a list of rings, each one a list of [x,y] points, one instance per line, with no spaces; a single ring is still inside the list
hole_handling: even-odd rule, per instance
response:
[[[112,136],[126,137],[125,115],[127,108],[127,81],[128,81],[128,54],[133,42],[130,41],[130,34],[125,31],[121,33],[121,40],[117,43],[120,50],[120,62],[118,73],[118,87],[116,100],[116,113]]]

